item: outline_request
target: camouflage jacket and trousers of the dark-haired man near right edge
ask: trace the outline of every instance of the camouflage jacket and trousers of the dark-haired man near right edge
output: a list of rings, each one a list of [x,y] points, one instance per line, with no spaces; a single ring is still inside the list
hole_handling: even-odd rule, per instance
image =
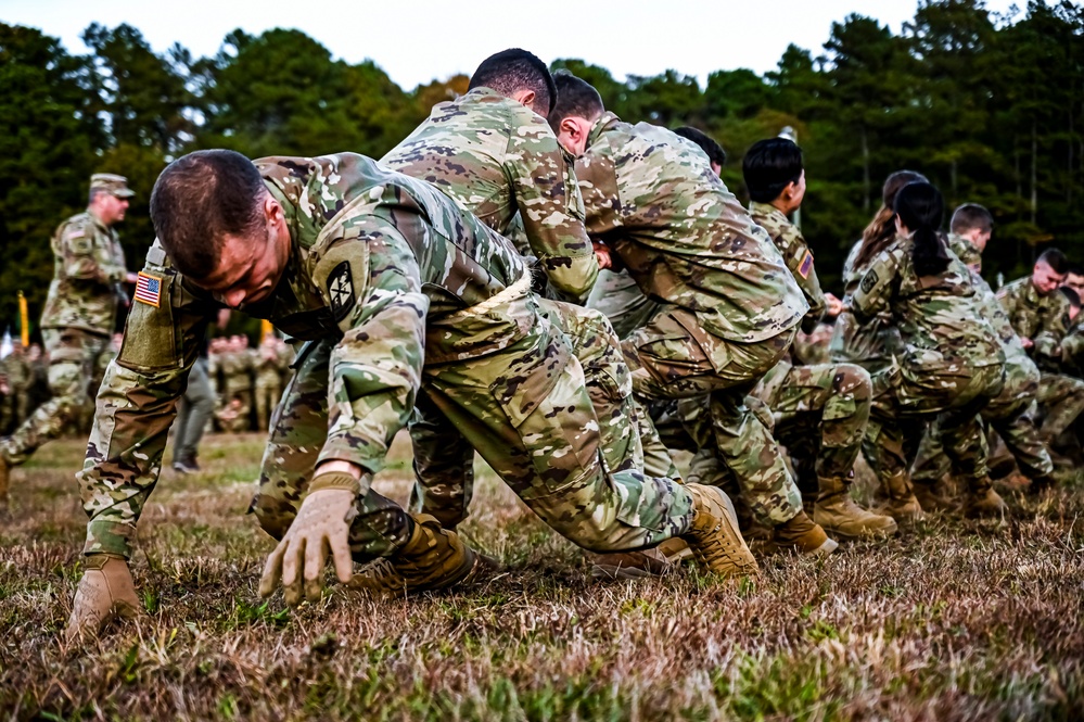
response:
[[[1069,333],[1069,301],[1053,291],[1041,295],[1031,277],[1017,279],[997,292],[997,300],[1022,339],[1031,339],[1031,356],[1042,371],[1040,433],[1047,442],[1068,429],[1084,410],[1084,381],[1059,373],[1061,342]]]

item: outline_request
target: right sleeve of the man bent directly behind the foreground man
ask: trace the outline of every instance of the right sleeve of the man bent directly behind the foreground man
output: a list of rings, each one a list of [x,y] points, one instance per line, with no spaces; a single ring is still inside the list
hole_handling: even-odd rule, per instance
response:
[[[599,271],[584,228],[583,198],[553,131],[543,118],[530,116],[509,138],[506,173],[532,253],[553,288],[582,303]]]

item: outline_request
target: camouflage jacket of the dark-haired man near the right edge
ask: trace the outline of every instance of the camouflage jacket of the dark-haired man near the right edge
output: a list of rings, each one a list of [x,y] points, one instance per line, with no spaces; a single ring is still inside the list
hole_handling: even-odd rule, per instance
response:
[[[997,300],[1022,339],[1031,339],[1032,357],[1046,370],[1056,371],[1061,341],[1069,332],[1069,301],[1057,291],[1040,295],[1031,276],[1002,287]]]

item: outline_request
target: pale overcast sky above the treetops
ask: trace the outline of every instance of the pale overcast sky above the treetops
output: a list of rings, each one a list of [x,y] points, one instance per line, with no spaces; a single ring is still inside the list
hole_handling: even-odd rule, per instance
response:
[[[986,3],[997,12],[1010,5]],[[336,58],[372,59],[409,90],[470,74],[485,56],[509,47],[526,48],[546,62],[579,58],[617,79],[667,68],[701,80],[716,69],[764,73],[790,43],[819,54],[832,22],[852,12],[898,33],[916,7],[915,0],[0,0],[0,21],[41,28],[78,53],[86,52],[79,34],[90,23],[128,23],[156,51],[180,42],[196,56],[214,54],[238,27],[254,35],[295,27]]]

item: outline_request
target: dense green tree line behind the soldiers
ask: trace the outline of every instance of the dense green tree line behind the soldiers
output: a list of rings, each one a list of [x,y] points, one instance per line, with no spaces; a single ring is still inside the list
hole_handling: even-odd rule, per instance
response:
[[[468,83],[457,75],[404,90],[372,61],[336,60],[294,29],[234,30],[212,58],[180,45],[156,53],[130,25],[95,23],[81,37],[90,52],[73,54],[40,30],[0,23],[0,332],[14,328],[18,290],[36,325],[52,277],[49,239],[85,207],[91,173],[126,175],[138,191],[120,227],[135,267],[153,238],[151,187],[171,159],[201,148],[380,157]],[[851,14],[816,54],[792,45],[771,72],[720,69],[703,87],[674,69],[622,80],[581,60],[553,66],[592,83],[623,119],[715,137],[739,197],[745,150],[792,127],[808,180],[803,231],[838,293],[881,182],[905,167],[949,204],[991,208],[991,275],[1011,279],[1051,244],[1084,262],[1082,63],[1084,9],[1071,2],[1000,15],[979,0],[922,0],[900,33]]]

